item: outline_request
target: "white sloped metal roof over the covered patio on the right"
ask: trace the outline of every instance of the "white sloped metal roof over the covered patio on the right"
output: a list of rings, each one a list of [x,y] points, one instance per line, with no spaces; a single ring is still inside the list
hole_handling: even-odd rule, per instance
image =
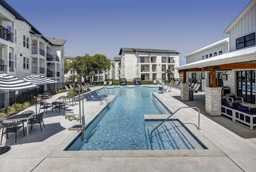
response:
[[[229,63],[243,63],[256,61],[256,46],[241,49],[234,52],[221,54],[215,57],[199,60],[193,63],[188,63],[183,66],[176,67],[175,69],[193,69],[202,68],[207,66],[215,66]]]

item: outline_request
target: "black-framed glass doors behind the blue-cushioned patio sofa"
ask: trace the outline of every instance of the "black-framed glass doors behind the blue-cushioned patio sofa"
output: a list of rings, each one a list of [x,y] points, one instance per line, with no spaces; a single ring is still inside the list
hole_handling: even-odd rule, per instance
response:
[[[255,70],[236,72],[236,94],[244,102],[255,104]]]

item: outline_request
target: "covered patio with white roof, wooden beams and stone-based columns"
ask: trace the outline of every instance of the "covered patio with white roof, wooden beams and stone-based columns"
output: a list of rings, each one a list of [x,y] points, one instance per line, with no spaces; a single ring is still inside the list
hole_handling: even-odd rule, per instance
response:
[[[183,101],[189,100],[189,83],[187,83],[186,80],[186,72],[201,71],[207,73],[205,76],[209,79],[209,86],[205,87],[205,111],[211,116],[221,115],[222,88],[217,87],[216,84],[216,72],[219,71],[229,74],[227,76],[229,78],[223,86],[229,86],[230,93],[234,93],[237,96],[239,95],[239,97],[245,97],[247,100],[247,90],[250,90],[250,96],[248,96],[250,98],[249,103],[255,104],[255,46],[189,63],[179,66],[176,69],[178,69],[179,73],[183,72],[183,83],[181,84],[180,91],[180,99]],[[241,79],[237,77],[238,71],[247,70],[250,71],[250,76],[247,76],[247,73],[244,72],[242,73],[243,76],[241,76]],[[241,82],[239,80],[241,80]],[[250,85],[243,87],[242,84],[245,83],[250,83]]]

